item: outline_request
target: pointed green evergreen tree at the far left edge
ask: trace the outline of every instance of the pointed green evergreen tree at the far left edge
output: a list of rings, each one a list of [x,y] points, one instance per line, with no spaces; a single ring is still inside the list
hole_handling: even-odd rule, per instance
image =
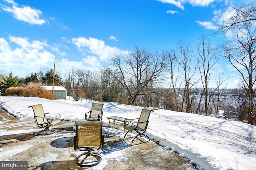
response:
[[[9,73],[9,76],[6,76],[6,78],[3,78],[3,82],[0,82],[0,94],[2,96],[6,96],[5,90],[9,87],[15,87],[19,84],[18,77],[12,76],[12,72]]]

